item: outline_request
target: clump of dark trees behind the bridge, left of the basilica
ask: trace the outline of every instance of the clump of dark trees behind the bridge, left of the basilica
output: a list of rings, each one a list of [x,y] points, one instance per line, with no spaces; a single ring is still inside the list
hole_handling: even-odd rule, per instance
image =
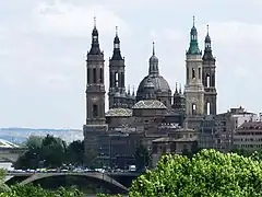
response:
[[[60,167],[62,164],[83,165],[84,142],[67,146],[60,138],[32,136],[26,141],[28,150],[14,163],[15,169]]]

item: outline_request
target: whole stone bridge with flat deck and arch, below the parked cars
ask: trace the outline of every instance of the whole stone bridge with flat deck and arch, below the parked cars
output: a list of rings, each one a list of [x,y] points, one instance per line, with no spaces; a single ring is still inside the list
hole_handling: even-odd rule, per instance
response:
[[[21,185],[26,185],[29,183],[34,183],[35,181],[55,177],[55,176],[80,176],[86,177],[90,179],[95,179],[102,183],[104,186],[108,186],[110,189],[116,190],[118,193],[127,193],[128,187],[121,184],[118,179],[131,177],[132,179],[136,178],[141,173],[100,173],[100,172],[50,172],[50,173],[28,173],[28,172],[12,172],[7,173],[5,182],[10,181],[13,177],[25,177],[25,179],[21,181]],[[116,177],[116,178],[115,178]]]

